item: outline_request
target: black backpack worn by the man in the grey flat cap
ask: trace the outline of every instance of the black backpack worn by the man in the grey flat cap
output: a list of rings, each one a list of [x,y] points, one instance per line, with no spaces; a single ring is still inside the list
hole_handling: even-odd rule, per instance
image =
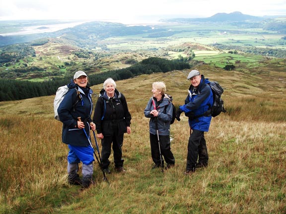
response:
[[[212,89],[213,92],[213,98],[214,98],[214,105],[211,107],[211,115],[213,117],[220,114],[220,112],[226,112],[223,106],[223,100],[221,99],[221,95],[223,93],[223,88],[218,84],[218,82],[211,82],[208,83]]]

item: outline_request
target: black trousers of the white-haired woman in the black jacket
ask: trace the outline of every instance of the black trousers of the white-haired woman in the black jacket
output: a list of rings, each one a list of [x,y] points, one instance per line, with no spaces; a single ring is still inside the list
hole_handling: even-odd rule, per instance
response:
[[[105,137],[101,140],[101,162],[102,168],[107,168],[110,164],[109,157],[111,154],[111,145],[113,150],[113,159],[115,167],[123,166],[122,159],[122,145],[124,134]]]

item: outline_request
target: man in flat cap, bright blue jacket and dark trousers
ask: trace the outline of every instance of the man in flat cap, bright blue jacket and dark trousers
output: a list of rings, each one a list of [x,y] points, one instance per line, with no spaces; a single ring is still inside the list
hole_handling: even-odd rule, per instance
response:
[[[196,168],[208,166],[209,156],[204,133],[209,131],[212,120],[210,108],[213,106],[213,92],[208,84],[209,80],[198,70],[192,70],[188,79],[191,81],[189,94],[185,105],[180,106],[176,112],[179,121],[180,114],[185,112],[191,128],[185,175],[192,174]]]

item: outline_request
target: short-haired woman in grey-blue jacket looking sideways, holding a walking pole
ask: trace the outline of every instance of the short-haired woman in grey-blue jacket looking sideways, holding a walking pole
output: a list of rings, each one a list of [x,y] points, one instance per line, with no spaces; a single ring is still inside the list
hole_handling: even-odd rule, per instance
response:
[[[167,168],[170,168],[175,164],[175,158],[171,152],[170,142],[170,121],[172,120],[173,107],[169,101],[170,98],[165,94],[165,91],[166,86],[163,82],[154,82],[152,84],[153,96],[150,98],[144,109],[145,117],[150,118],[150,145],[151,156],[154,162],[152,168],[164,167],[162,156],[167,163]]]

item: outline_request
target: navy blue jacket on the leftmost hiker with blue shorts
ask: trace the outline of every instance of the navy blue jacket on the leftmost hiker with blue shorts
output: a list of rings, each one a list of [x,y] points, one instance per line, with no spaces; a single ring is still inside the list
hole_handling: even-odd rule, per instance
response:
[[[85,90],[88,92],[87,95],[85,95],[83,90],[72,80],[71,83],[68,84],[68,88],[70,90],[67,92],[58,108],[60,120],[63,122],[62,140],[65,144],[70,144],[72,146],[89,146],[89,142],[83,129],[77,128],[77,117],[81,117],[81,121],[84,122],[84,129],[89,137],[89,122],[92,121],[90,116],[93,108],[91,101],[92,90],[89,87],[86,87]],[[82,100],[78,99],[76,88],[80,92]],[[74,104],[75,106],[73,107]]]

